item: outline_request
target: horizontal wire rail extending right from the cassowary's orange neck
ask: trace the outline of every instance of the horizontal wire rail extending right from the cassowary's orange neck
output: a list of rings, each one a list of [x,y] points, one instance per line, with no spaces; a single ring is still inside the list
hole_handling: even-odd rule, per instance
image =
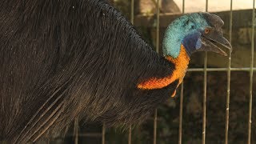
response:
[[[207,68],[206,71],[227,71],[229,68]],[[230,68],[231,71],[250,71],[250,67],[234,67]],[[256,71],[256,67],[252,69],[253,71]],[[203,72],[204,68],[190,68],[187,71],[190,72]]]

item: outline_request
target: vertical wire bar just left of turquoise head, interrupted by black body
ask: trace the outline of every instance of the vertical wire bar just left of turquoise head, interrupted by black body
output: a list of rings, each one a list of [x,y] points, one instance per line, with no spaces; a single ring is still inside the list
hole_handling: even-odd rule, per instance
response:
[[[157,35],[156,35],[156,52],[159,52],[159,0],[157,0]],[[158,110],[154,110],[154,141],[157,143],[157,126],[158,126]]]

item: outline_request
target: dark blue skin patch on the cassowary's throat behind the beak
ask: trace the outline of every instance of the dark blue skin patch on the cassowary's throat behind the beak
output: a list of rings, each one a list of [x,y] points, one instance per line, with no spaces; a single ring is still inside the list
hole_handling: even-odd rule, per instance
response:
[[[186,54],[189,56],[194,53],[195,50],[198,50],[202,46],[202,42],[200,39],[201,33],[194,32],[192,34],[187,35],[182,40],[182,45],[186,49]]]

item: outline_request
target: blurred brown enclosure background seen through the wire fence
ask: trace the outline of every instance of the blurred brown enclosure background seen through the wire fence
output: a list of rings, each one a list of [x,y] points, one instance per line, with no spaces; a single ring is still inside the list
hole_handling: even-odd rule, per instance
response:
[[[226,97],[230,84],[229,143],[244,144],[248,138],[248,116],[250,86],[252,86],[251,143],[256,143],[256,77],[250,81],[251,62],[256,70],[256,58],[251,59],[254,39],[253,0],[159,0],[159,23],[157,21],[156,0],[110,0],[111,5],[134,22],[134,26],[154,48],[159,45],[162,54],[162,37],[166,26],[182,13],[209,11],[218,14],[225,22],[223,32],[231,40],[233,52],[229,57],[218,54],[194,54],[190,70],[184,78],[182,143],[202,143],[202,110],[204,96],[204,66],[206,77],[206,143],[218,144],[225,141]],[[232,12],[230,12],[232,6]],[[131,10],[134,10],[132,15]],[[230,14],[232,13],[232,17]],[[159,26],[159,43],[156,41]],[[254,51],[255,54],[255,51]],[[207,59],[207,61],[206,61]],[[231,66],[228,76],[229,62]],[[215,69],[216,68],[216,69]],[[220,69],[219,69],[220,68]],[[255,75],[255,74],[254,74]],[[179,88],[180,89],[180,88]],[[158,109],[157,143],[178,143],[179,112],[181,90]],[[105,129],[104,129],[105,130]],[[102,125],[98,123],[78,123],[70,126],[65,138],[49,138],[49,143],[102,143]],[[105,143],[128,143],[128,131],[122,128],[106,128]],[[103,134],[103,135],[104,135]],[[154,115],[142,126],[133,126],[131,143],[153,143]]]

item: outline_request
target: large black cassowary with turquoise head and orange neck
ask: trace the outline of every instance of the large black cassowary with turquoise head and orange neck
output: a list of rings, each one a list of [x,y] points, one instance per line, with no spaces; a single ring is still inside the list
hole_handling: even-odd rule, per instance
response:
[[[226,55],[222,19],[186,14],[157,54],[103,0],[2,0],[0,141],[35,142],[74,121],[140,123],[175,94],[196,51]]]

